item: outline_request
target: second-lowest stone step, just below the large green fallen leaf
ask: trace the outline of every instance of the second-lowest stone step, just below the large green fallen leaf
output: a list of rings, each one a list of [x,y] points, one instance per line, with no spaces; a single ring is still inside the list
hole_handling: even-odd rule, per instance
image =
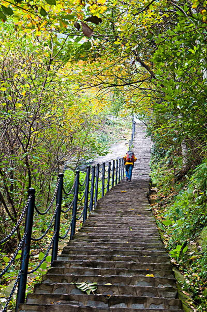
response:
[[[74,304],[94,307],[120,307],[139,309],[180,309],[181,303],[178,299],[156,298],[147,296],[124,296],[124,295],[64,295],[64,294],[29,294],[27,302],[29,304]]]

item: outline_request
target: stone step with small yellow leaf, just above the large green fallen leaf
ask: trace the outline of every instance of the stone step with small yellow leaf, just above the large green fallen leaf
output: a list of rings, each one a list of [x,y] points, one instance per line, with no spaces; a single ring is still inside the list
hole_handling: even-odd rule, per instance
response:
[[[111,283],[112,285],[134,285],[134,286],[153,286],[153,287],[175,287],[175,279],[165,277],[148,276],[121,276],[121,275],[61,275],[45,274],[42,276],[42,282],[47,283]]]

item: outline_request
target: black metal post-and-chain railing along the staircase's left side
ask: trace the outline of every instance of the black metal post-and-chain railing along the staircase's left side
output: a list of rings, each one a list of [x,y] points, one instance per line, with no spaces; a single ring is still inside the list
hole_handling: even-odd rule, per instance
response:
[[[132,134],[131,134],[131,140],[130,140],[130,146],[129,146],[130,150],[133,144],[134,135],[135,135],[135,121],[133,117]],[[102,168],[102,170],[100,170],[100,167]],[[106,169],[106,167],[108,167],[108,169]],[[99,179],[99,173],[102,174],[100,179]],[[18,290],[17,290],[17,300],[16,300],[15,311],[16,312],[18,311],[19,304],[23,304],[25,301],[27,274],[30,274],[36,271],[41,266],[42,262],[45,261],[46,256],[49,254],[51,247],[52,247],[51,266],[53,266],[53,262],[57,258],[59,239],[65,238],[70,231],[70,240],[71,240],[76,232],[76,220],[80,220],[81,218],[83,218],[83,223],[84,223],[87,219],[88,212],[90,213],[92,210],[96,208],[97,200],[103,197],[105,193],[110,190],[110,188],[113,188],[117,183],[119,183],[124,178],[124,161],[123,161],[123,158],[113,160],[112,166],[111,166],[111,161],[108,163],[107,166],[106,166],[106,163],[102,163],[101,166],[98,163],[96,166],[92,167],[92,170],[90,166],[87,166],[86,177],[83,183],[80,183],[80,179],[79,179],[80,171],[77,170],[75,178],[74,178],[73,186],[70,192],[68,193],[64,189],[63,178],[64,178],[64,174],[59,173],[55,192],[52,197],[52,202],[44,212],[40,212],[35,205],[35,189],[29,188],[28,190],[27,203],[22,211],[22,214],[17,224],[17,225],[20,224],[20,222],[23,219],[24,214],[26,213],[24,234],[23,234],[20,244],[17,247],[17,251],[14,252],[14,256],[9,261],[9,265],[12,264],[12,262],[15,260],[14,259],[15,256],[21,250],[21,247],[22,247],[20,270],[19,270],[17,279],[14,283],[14,287],[12,288],[11,294],[2,312],[5,312],[7,310],[9,301],[12,298],[12,294],[14,293],[17,284],[18,284]],[[82,198],[78,200],[79,186],[83,187],[84,185],[85,185],[85,190],[83,192]],[[71,199],[70,197],[70,202],[71,202],[70,207],[64,211],[61,208],[62,207],[62,194],[64,192],[65,196],[69,197],[72,194],[72,191],[74,193],[73,193],[73,198]],[[90,195],[90,198],[89,198],[89,195]],[[40,215],[46,214],[49,211],[49,209],[52,207],[52,203],[54,202],[55,197],[56,197],[56,209],[55,209],[55,212],[53,213],[52,220],[50,221],[49,226],[47,227],[47,230],[43,233],[42,236],[38,238],[38,240],[42,239],[42,237],[47,234],[47,232],[51,228],[52,223],[54,221],[54,230],[53,230],[52,240],[49,244],[49,247],[47,248],[44,258],[39,263],[39,265],[34,270],[28,271],[31,240],[37,241],[37,239],[32,238],[34,209],[36,209],[37,213]],[[81,212],[81,216],[77,218],[78,202],[80,202],[81,204],[83,199],[84,199],[83,210]],[[66,214],[70,210],[71,207],[72,207],[72,214],[71,214],[70,226],[66,234],[64,236],[60,236],[59,234],[60,234],[60,227],[61,227],[61,223],[60,223],[61,213]],[[10,238],[10,236],[12,236],[12,234],[15,232],[16,228],[17,226],[12,230],[12,232],[5,239],[0,241],[0,244],[3,244],[5,241],[7,241]],[[0,275],[5,274],[5,272],[7,271],[7,267],[2,271]]]

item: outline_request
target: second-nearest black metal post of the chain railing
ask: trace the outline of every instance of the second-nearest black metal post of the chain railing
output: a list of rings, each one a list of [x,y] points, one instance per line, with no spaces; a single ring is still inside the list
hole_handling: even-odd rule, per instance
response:
[[[58,249],[58,242],[59,242],[59,233],[60,233],[60,216],[61,216],[61,204],[62,204],[62,187],[63,187],[63,173],[58,174],[58,178],[60,178],[60,182],[57,189],[57,197],[56,197],[56,207],[57,213],[55,216],[54,222],[54,233],[56,230],[55,238],[52,244],[52,256],[51,256],[51,266],[54,260],[57,258],[57,249]]]

